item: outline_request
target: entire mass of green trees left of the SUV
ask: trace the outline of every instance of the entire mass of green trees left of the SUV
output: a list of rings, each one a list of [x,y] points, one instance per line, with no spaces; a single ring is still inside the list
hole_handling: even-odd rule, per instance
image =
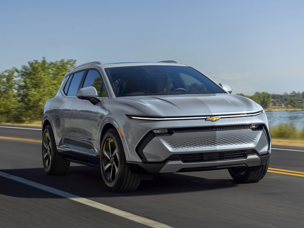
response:
[[[43,105],[56,95],[64,75],[76,60],[55,62],[33,60],[21,69],[12,68],[0,75],[0,121],[30,122],[42,117]]]

